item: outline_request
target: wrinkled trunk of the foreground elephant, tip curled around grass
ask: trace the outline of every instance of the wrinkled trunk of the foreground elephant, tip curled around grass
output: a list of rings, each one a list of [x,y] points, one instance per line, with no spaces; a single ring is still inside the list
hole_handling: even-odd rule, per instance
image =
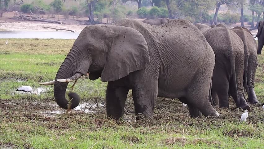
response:
[[[79,54],[78,50],[71,49],[64,62],[60,66],[54,82],[54,97],[55,101],[60,107],[63,109],[68,109],[69,102],[65,98],[68,82],[78,79],[82,75],[86,75],[89,67],[90,62],[88,61],[87,57],[85,57],[85,54]],[[77,93],[69,93],[68,97],[71,100],[69,109],[73,109],[79,105],[80,97],[77,95]]]

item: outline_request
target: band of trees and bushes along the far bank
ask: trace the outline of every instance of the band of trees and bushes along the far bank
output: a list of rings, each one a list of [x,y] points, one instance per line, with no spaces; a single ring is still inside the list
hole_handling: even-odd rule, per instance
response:
[[[23,4],[22,4],[23,3]],[[20,5],[22,4],[22,5]],[[10,7],[8,7],[10,6]],[[24,13],[30,11],[36,14],[64,15],[65,19],[71,15],[88,16],[90,22],[100,22],[102,18],[115,22],[123,18],[184,18],[192,22],[218,24],[219,22],[232,24],[241,21],[252,24],[264,18],[264,0],[33,0],[24,3],[17,0],[0,0],[1,11],[5,9],[19,9]],[[219,10],[228,8],[233,11],[218,14]],[[244,11],[248,11],[244,15]]]

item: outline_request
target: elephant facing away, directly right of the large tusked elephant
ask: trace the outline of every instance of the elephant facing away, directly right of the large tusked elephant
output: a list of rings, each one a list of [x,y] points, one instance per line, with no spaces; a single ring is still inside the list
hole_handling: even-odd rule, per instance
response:
[[[250,111],[244,98],[244,44],[240,37],[225,25],[210,27],[197,23],[195,25],[204,34],[215,54],[213,70],[212,98],[215,105],[229,107],[230,94],[236,107]]]

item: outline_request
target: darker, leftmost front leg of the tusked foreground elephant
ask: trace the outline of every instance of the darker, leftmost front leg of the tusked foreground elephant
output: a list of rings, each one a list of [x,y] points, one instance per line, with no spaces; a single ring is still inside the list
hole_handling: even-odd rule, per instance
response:
[[[108,82],[106,89],[106,115],[118,120],[124,113],[125,101],[129,88],[116,86]]]

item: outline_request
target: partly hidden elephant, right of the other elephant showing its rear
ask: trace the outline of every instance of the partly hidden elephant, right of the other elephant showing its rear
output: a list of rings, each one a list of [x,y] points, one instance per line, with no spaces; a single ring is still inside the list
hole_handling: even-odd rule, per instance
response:
[[[244,43],[244,74],[243,74],[243,85],[249,96],[249,103],[259,103],[257,95],[254,91],[254,79],[257,70],[257,43],[253,35],[247,28],[234,27],[231,29],[234,31]]]

